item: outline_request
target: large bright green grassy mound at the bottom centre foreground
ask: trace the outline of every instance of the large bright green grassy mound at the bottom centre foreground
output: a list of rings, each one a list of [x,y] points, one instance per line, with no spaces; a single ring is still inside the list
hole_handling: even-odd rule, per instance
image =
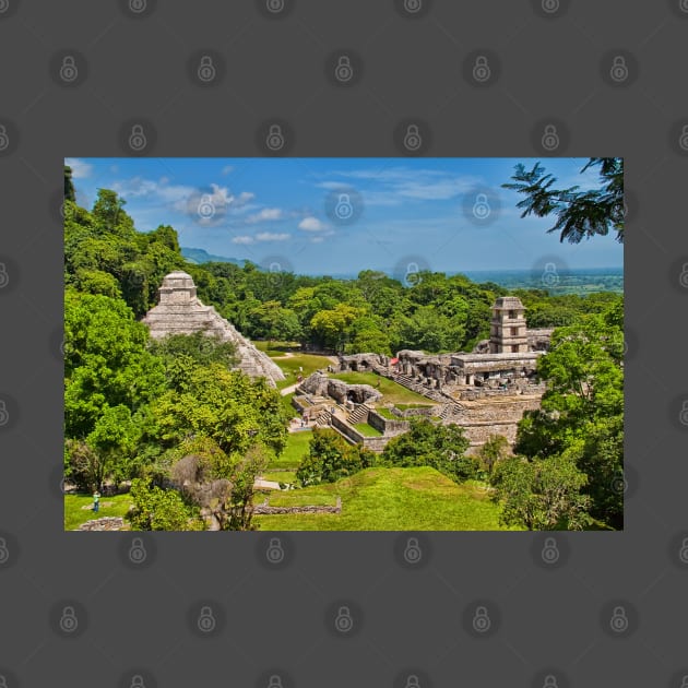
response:
[[[342,513],[257,515],[262,531],[500,531],[499,508],[476,483],[435,468],[367,468],[337,483],[274,491],[273,507],[334,505]]]

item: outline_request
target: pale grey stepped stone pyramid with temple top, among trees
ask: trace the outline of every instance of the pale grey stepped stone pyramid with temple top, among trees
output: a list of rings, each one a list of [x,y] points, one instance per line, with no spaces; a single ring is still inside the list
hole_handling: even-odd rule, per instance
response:
[[[251,378],[263,377],[271,387],[284,380],[284,373],[263,352],[242,336],[212,306],[203,305],[195,295],[195,284],[190,274],[170,272],[163,280],[158,305],[143,318],[153,339],[168,334],[193,334],[204,332],[218,336],[223,342],[236,346],[239,363],[237,368]]]

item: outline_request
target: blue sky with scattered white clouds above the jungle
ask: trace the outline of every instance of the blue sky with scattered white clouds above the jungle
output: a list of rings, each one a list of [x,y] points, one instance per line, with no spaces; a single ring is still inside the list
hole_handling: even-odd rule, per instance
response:
[[[97,189],[114,189],[141,232],[171,225],[182,247],[297,273],[393,272],[413,260],[451,273],[527,270],[543,260],[621,266],[610,235],[571,246],[547,234],[551,217],[520,217],[522,197],[500,187],[519,162],[537,159],[66,158],[86,207]],[[597,186],[596,170],[579,174],[586,158],[541,162],[557,186]],[[354,222],[333,212],[344,192]],[[487,214],[476,216],[481,201]]]

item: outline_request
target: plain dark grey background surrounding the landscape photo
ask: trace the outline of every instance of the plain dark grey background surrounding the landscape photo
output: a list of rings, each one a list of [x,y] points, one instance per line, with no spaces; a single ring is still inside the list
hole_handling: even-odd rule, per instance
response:
[[[545,0],[546,1],[546,0]],[[685,232],[688,12],[679,0],[629,3],[435,0],[403,16],[392,0],[298,0],[268,16],[249,0],[0,0],[0,675],[9,688],[61,685],[675,686],[688,675],[686,518],[688,400]],[[684,3],[688,10],[688,3]],[[351,50],[356,82],[325,74]],[[213,50],[218,83],[187,63]],[[494,80],[466,79],[466,56],[493,56]],[[78,56],[79,79],[56,64]],[[610,59],[629,74],[609,80]],[[363,70],[363,71],[361,71]],[[424,154],[622,155],[626,246],[626,530],[420,536],[404,565],[399,534],[298,534],[271,569],[265,534],[161,534],[127,557],[131,534],[62,532],[62,230],[64,156],[132,152],[146,122],[156,156],[264,155],[257,132],[288,123],[297,156],[398,156],[404,118],[427,124]],[[0,143],[1,143],[0,139]],[[401,537],[405,537],[402,535]],[[494,626],[471,632],[472,604]],[[333,629],[348,604],[351,636]],[[79,629],[60,633],[74,606]],[[210,605],[213,633],[199,633]],[[621,605],[628,631],[609,631]],[[195,616],[194,616],[195,615]],[[496,632],[494,632],[496,631]]]

